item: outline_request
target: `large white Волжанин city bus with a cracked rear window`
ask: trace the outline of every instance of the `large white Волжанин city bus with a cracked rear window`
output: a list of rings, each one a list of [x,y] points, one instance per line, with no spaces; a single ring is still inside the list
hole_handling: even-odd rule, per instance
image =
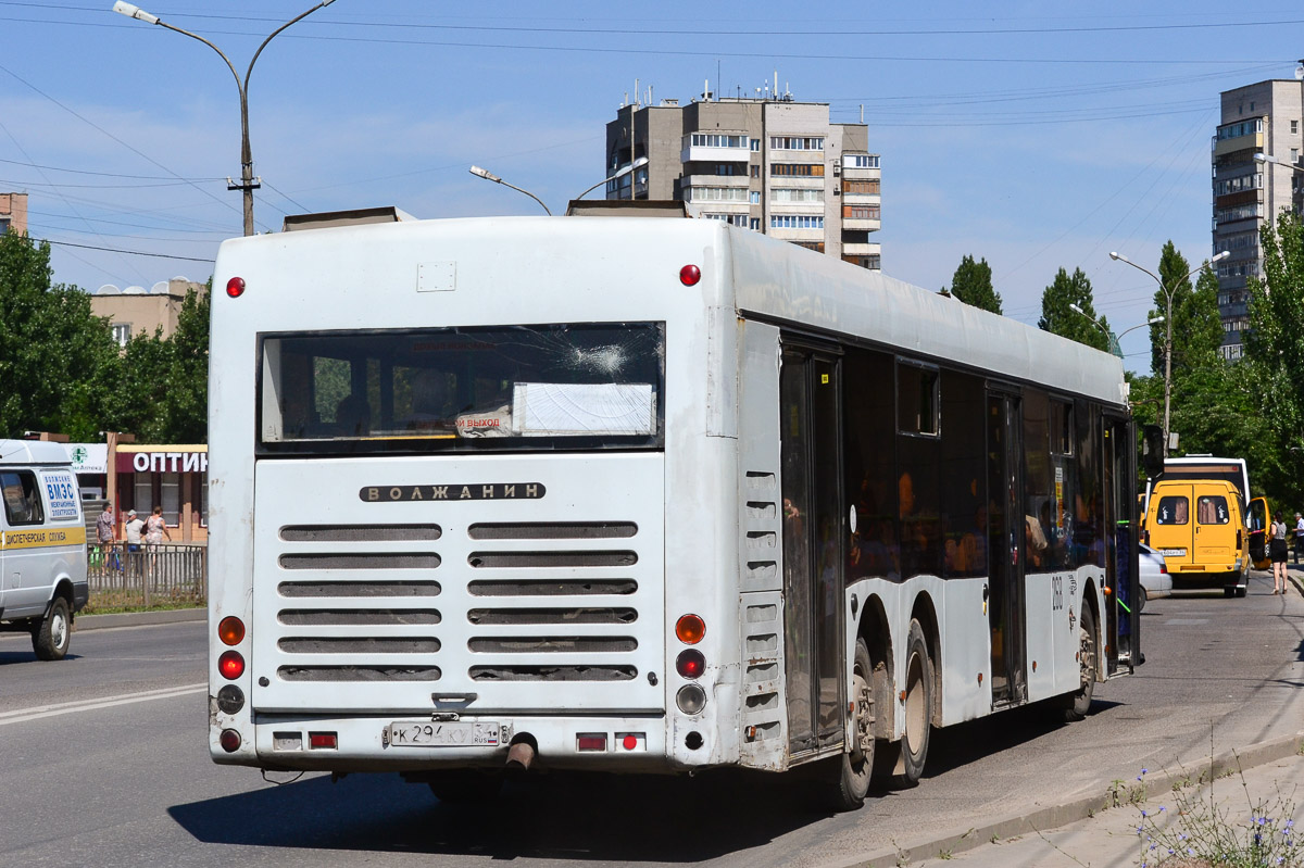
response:
[[[850,808],[1140,662],[1110,354],[690,219],[289,231],[215,287],[218,762],[820,762]]]

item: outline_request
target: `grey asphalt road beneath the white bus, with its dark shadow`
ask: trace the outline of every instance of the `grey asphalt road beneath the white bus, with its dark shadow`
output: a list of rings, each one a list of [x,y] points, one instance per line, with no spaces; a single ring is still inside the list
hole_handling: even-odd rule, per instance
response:
[[[759,773],[535,777],[486,809],[439,804],[396,775],[275,786],[209,761],[203,623],[81,631],[57,663],[5,635],[0,864],[836,864],[1294,734],[1304,600],[1270,590],[1256,577],[1244,600],[1151,601],[1146,665],[1098,686],[1086,721],[1030,708],[935,732],[918,787],[837,816],[794,775]]]

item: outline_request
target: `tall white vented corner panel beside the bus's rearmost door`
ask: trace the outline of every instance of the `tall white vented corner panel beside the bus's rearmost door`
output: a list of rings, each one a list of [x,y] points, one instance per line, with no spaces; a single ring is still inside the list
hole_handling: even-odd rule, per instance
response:
[[[738,568],[741,762],[788,766],[784,692],[782,503],[778,497],[778,330],[738,322]]]

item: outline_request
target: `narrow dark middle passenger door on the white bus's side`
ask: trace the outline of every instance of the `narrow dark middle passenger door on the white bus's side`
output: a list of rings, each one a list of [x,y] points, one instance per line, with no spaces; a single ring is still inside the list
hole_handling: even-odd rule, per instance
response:
[[[1024,662],[1024,425],[1017,395],[987,394],[987,626],[992,705],[1028,696]]]

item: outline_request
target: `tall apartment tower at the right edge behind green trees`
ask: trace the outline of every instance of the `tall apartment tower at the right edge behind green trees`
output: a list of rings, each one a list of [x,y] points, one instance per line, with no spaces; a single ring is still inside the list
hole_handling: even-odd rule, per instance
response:
[[[1222,94],[1222,115],[1213,139],[1214,253],[1218,263],[1218,311],[1223,322],[1222,353],[1240,358],[1249,327],[1245,279],[1262,274],[1258,231],[1275,223],[1283,209],[1300,206],[1304,81],[1271,80]],[[1281,163],[1254,159],[1267,154]]]

